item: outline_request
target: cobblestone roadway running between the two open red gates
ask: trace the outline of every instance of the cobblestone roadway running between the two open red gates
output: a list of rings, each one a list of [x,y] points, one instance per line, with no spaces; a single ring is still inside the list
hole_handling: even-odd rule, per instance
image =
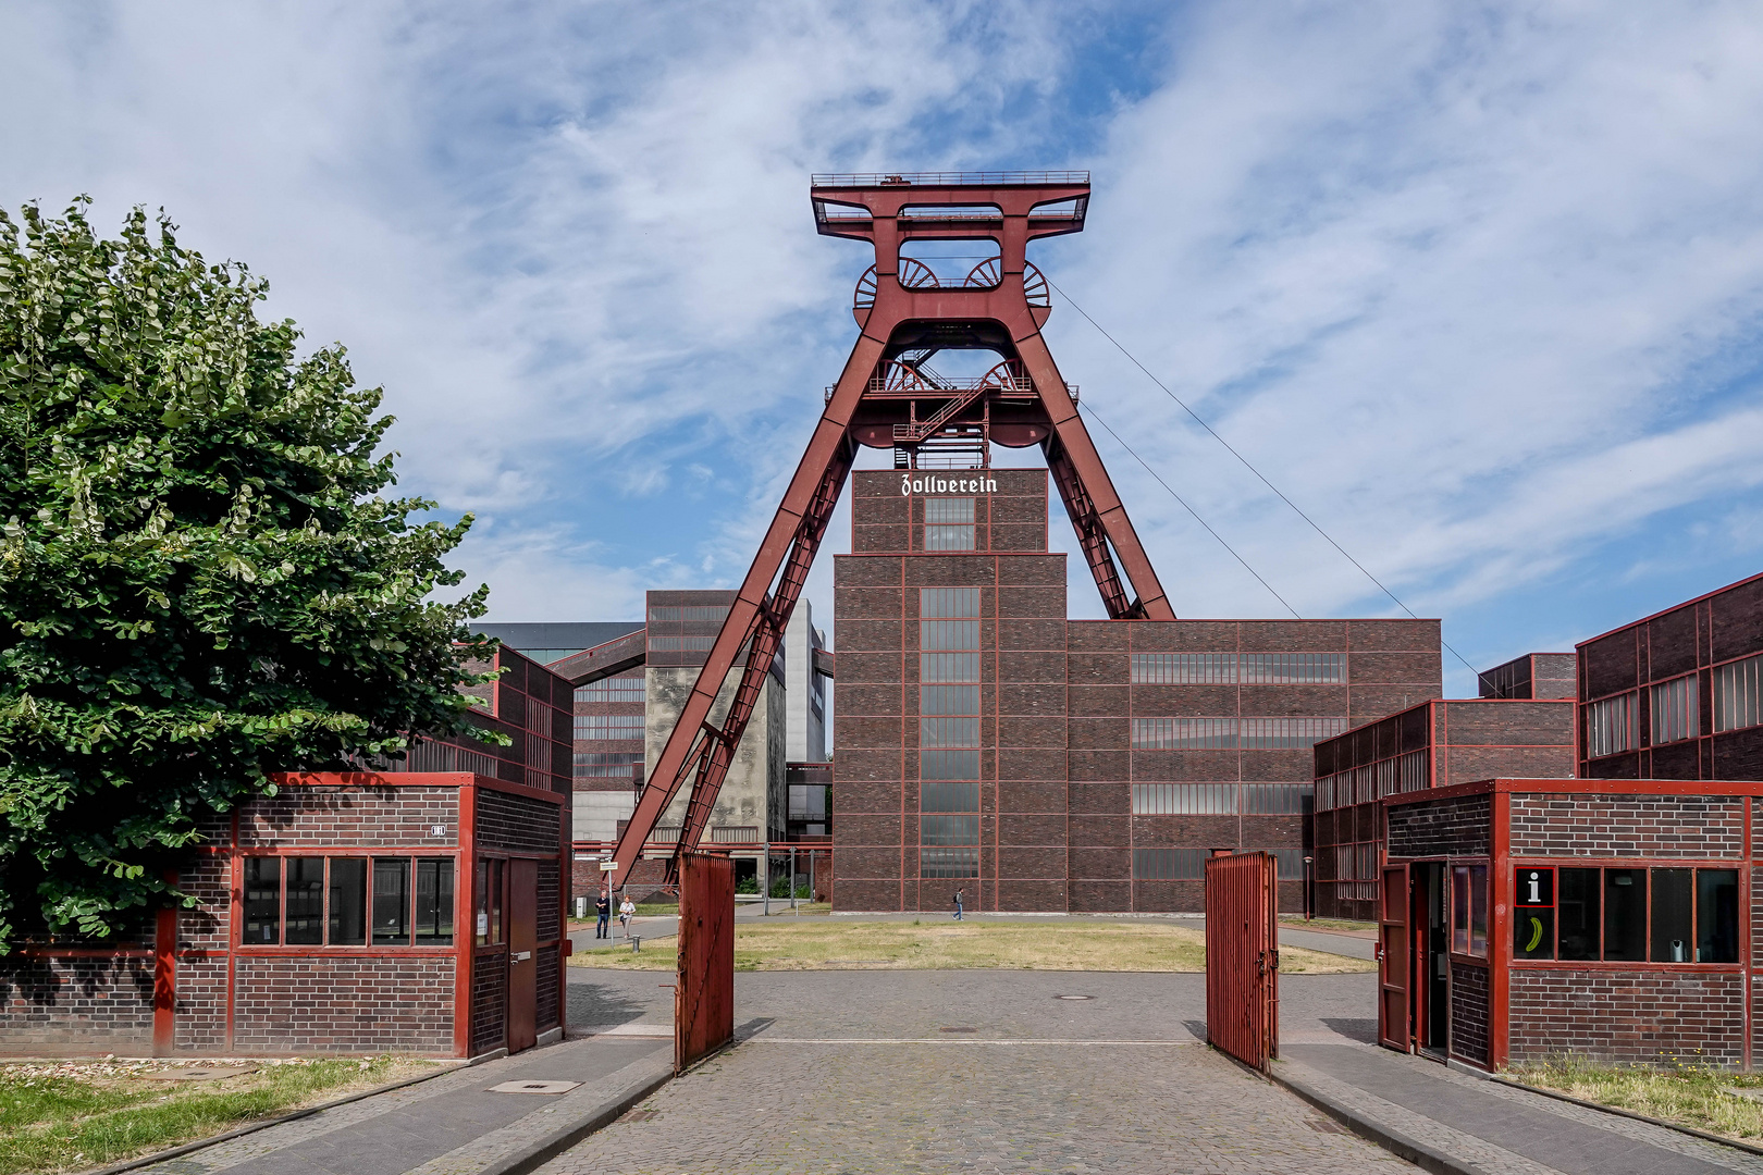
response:
[[[594,985],[596,1001],[624,1008],[647,1002],[635,985],[603,976],[580,976],[578,983]],[[816,972],[740,979],[737,1022],[769,1020],[763,1032],[541,1170],[1414,1170],[1197,1045],[1188,1029],[1195,1018],[1188,976]],[[1331,990],[1350,997],[1319,988],[1319,1009],[1350,1013],[1361,1002],[1345,985]],[[1095,999],[1056,1001],[1060,994]],[[971,1031],[945,1034],[945,1027]],[[1104,1039],[1157,1043],[1098,1043]]]

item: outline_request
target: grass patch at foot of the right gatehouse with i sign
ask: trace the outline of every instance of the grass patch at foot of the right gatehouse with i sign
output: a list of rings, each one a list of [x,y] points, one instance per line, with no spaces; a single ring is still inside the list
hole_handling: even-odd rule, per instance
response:
[[[1763,1075],[1696,1064],[1647,1069],[1558,1057],[1513,1066],[1506,1076],[1728,1138],[1763,1138],[1763,1101],[1733,1092],[1763,1094]]]

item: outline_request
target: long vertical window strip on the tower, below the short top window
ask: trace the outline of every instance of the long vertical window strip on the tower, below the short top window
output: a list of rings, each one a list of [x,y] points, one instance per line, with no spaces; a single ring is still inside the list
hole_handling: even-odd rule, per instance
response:
[[[978,617],[978,588],[919,592],[920,877],[980,872]]]

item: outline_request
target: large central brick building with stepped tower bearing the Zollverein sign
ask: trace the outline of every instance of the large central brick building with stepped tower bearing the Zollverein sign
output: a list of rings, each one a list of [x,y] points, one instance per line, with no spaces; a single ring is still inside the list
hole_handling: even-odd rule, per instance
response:
[[[1040,469],[859,472],[834,560],[839,909],[1303,900],[1312,745],[1440,694],[1435,620],[1068,620]]]

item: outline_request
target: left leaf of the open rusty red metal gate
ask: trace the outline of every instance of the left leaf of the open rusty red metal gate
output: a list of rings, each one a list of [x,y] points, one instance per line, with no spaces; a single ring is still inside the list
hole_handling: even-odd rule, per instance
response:
[[[673,1071],[735,1036],[735,863],[679,854],[679,981],[673,987]]]

